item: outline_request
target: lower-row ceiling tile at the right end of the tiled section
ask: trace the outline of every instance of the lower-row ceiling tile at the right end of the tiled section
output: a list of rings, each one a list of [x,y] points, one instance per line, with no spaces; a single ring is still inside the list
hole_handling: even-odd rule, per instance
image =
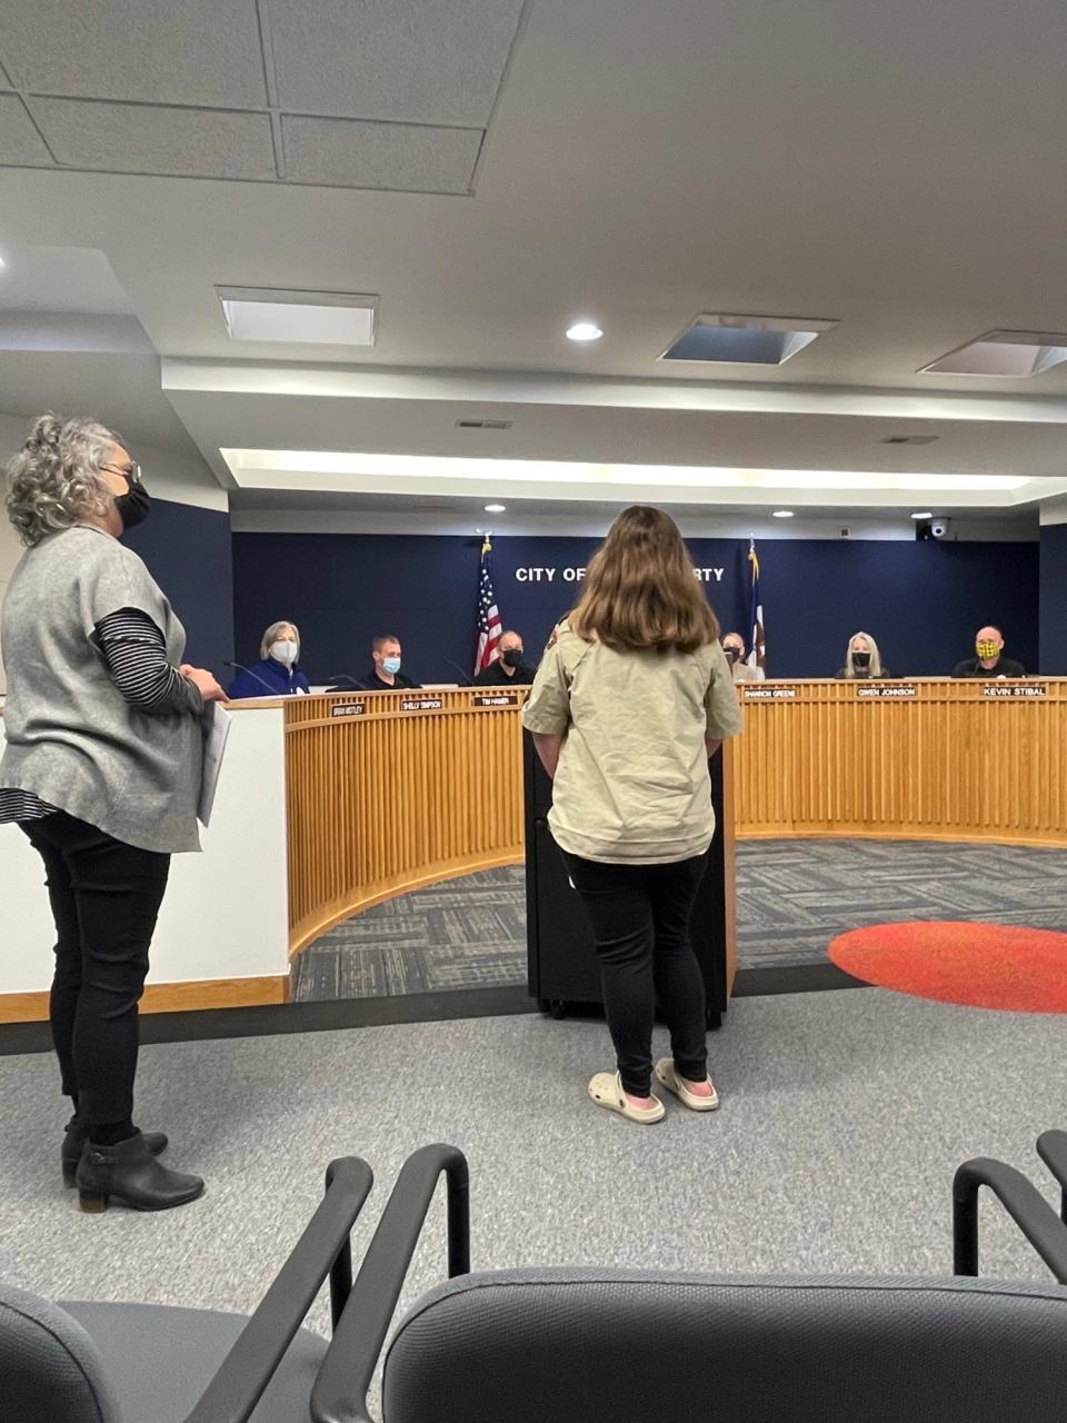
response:
[[[471,191],[481,129],[282,115],[292,182],[394,192]]]

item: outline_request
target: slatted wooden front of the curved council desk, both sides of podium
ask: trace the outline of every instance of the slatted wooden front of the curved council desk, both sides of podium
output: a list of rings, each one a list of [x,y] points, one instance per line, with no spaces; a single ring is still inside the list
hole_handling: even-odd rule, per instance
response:
[[[768,682],[738,694],[738,840],[1067,845],[1067,679]],[[290,952],[357,909],[522,859],[526,689],[477,704],[491,696],[286,699]]]

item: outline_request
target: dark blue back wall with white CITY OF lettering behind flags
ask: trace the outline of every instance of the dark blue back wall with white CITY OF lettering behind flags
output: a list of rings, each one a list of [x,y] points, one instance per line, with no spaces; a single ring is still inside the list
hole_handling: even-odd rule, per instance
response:
[[[596,539],[494,541],[494,586],[505,625],[532,652],[576,601]],[[454,682],[450,660],[468,669],[474,649],[477,538],[357,534],[233,535],[238,657],[259,655],[276,618],[302,630],[313,682],[370,667],[370,639],[396,632],[404,670],[424,682]],[[706,591],[724,629],[745,630],[748,545],[690,539],[699,568],[721,568]],[[1003,628],[1010,656],[1037,669],[1037,544],[856,542],[764,539],[761,588],[768,670],[777,677],[832,676],[849,633],[864,629],[899,675],[938,675],[973,656],[984,622]],[[555,568],[552,581],[516,578]]]

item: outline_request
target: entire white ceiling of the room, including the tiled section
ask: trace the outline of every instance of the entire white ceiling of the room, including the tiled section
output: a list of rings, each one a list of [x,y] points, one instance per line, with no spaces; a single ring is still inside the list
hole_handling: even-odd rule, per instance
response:
[[[916,374],[990,329],[1067,329],[1053,0],[77,14],[7,0],[0,162],[37,162],[44,135],[73,166],[232,158],[267,181],[0,166],[4,309],[43,310],[23,248],[94,249],[166,359],[164,394],[158,370],[127,384],[80,364],[104,357],[0,351],[0,408],[92,397],[155,444],[191,438],[223,482],[221,447],[1009,474],[1049,495],[1067,477],[1067,366]],[[469,192],[475,162],[469,196],[340,186]],[[77,310],[54,280],[51,310]],[[222,285],[378,293],[377,344],[359,366],[277,343],[235,360]],[[699,312],[838,324],[781,369],[681,380],[656,357]],[[580,314],[602,342],[563,339]],[[195,380],[189,361],[206,363]],[[514,424],[455,428],[471,416]],[[896,434],[939,438],[882,443]],[[819,499],[844,507],[814,481]]]

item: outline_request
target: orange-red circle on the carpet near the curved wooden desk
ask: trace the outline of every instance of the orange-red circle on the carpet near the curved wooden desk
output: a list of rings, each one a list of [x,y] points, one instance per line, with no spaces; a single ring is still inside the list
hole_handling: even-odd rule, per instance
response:
[[[827,951],[845,973],[939,1003],[1067,1013],[1067,933],[952,921],[876,924]]]

